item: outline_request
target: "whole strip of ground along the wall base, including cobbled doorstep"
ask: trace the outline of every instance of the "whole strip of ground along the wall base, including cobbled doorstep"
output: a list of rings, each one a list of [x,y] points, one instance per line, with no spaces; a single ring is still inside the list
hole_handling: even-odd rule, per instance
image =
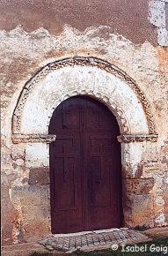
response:
[[[154,228],[138,232],[135,230],[113,229],[102,230],[101,232],[83,232],[71,235],[54,235],[47,237],[38,243],[25,243],[18,245],[7,245],[2,247],[2,256],[29,256],[32,252],[48,252],[48,249],[54,249],[55,255],[64,255],[64,252],[58,249],[64,249],[66,252],[74,251],[81,247],[84,251],[103,249],[111,247],[113,244],[136,244],[144,242],[149,237],[168,237],[168,227]],[[56,244],[56,245],[55,245]]]

